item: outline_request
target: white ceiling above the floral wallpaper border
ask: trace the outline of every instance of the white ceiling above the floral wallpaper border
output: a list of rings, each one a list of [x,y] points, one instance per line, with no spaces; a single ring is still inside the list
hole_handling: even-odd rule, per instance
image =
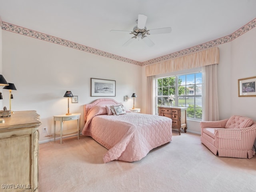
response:
[[[232,34],[256,18],[256,0],[0,0],[0,18],[17,26],[56,36],[111,54],[145,62]],[[152,34],[149,47],[133,35],[138,14]]]

